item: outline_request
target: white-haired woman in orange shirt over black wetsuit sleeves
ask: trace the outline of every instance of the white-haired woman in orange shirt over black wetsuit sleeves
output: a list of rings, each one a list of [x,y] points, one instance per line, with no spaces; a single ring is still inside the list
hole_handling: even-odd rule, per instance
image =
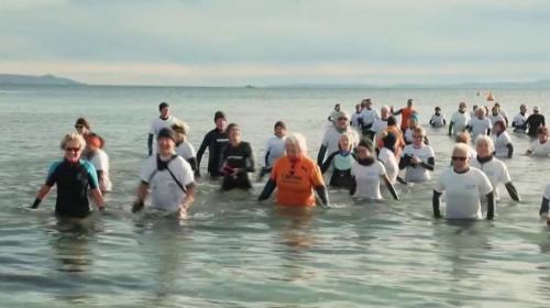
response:
[[[312,207],[316,205],[315,190],[321,205],[329,207],[329,196],[321,170],[306,154],[306,139],[300,134],[287,136],[285,152],[285,156],[275,161],[271,177],[258,200],[270,198],[273,190],[277,188],[277,205]]]

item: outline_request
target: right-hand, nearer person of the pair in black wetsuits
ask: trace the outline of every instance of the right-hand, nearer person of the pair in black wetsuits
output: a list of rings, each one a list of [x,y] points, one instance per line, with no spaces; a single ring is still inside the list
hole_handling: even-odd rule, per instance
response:
[[[241,129],[235,123],[228,125],[229,143],[221,152],[220,172],[223,174],[222,190],[250,189],[249,173],[254,172],[254,155],[250,143],[241,141]]]

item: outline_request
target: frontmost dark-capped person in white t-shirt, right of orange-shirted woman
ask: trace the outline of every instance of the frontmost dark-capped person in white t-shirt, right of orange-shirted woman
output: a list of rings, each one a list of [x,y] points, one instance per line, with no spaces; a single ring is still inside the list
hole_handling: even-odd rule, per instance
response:
[[[358,161],[351,168],[352,185],[350,194],[355,198],[372,200],[383,199],[381,194],[381,179],[386,184],[394,199],[399,197],[386,175],[384,165],[373,156],[373,147],[366,141],[361,141],[356,148]]]

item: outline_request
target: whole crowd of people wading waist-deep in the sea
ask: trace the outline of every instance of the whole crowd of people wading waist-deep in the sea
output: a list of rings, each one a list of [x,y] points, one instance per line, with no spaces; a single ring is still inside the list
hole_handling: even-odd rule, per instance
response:
[[[162,102],[158,110],[160,117],[153,121],[147,138],[148,157],[140,172],[133,212],[142,210],[151,195],[152,207],[185,218],[195,200],[200,163],[207,150],[208,175],[221,178],[222,190],[252,188],[250,174],[256,172],[252,146],[242,141],[238,124],[228,124],[222,111],[216,111],[215,128],[196,152],[187,141],[188,125],[170,114],[168,103]],[[396,116],[400,116],[399,125]],[[345,189],[353,198],[382,200],[381,189],[387,189],[394,199],[399,199],[395,185],[429,180],[436,167],[435,151],[418,116],[413,99],[400,109],[382,107],[380,116],[371,99],[356,105],[351,117],[337,105],[328,117],[330,124],[323,133],[317,162],[308,157],[305,138],[299,133],[288,134],[286,123],[277,121],[266,142],[264,166],[258,170],[258,180],[270,175],[258,200],[266,200],[276,191],[279,206],[330,207],[324,174],[330,178],[328,186]],[[447,127],[441,108],[436,107],[429,125]],[[549,132],[537,107],[527,116],[527,107],[521,105],[509,123],[498,103],[474,107],[472,113],[466,111],[465,102],[459,103],[448,125],[449,135],[457,138],[452,162],[433,188],[435,217],[441,217],[443,193],[447,219],[480,219],[483,204],[487,207],[486,218],[493,219],[501,184],[512,199],[519,201],[506,164],[501,160],[514,155],[509,125],[516,133],[536,138],[527,154],[550,156]],[[32,208],[38,207],[57,185],[56,213],[88,216],[89,196],[100,210],[105,209],[102,195],[112,189],[109,158],[102,150],[105,141],[91,132],[86,119],[78,119],[75,129],[76,132],[63,138],[64,157],[52,164]],[[470,145],[472,139],[474,148]],[[550,185],[540,208],[540,215],[550,224],[549,200]]]

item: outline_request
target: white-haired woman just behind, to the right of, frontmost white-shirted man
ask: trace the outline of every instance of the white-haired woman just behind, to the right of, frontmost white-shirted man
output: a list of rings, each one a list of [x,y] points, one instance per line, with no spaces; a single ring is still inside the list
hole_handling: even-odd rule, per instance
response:
[[[472,167],[481,169],[491,180],[495,191],[495,200],[499,199],[498,185],[504,184],[508,195],[515,201],[519,201],[519,194],[512,184],[508,167],[498,158],[493,156],[495,146],[493,140],[486,135],[481,135],[475,140],[475,151],[477,156],[471,162]]]

